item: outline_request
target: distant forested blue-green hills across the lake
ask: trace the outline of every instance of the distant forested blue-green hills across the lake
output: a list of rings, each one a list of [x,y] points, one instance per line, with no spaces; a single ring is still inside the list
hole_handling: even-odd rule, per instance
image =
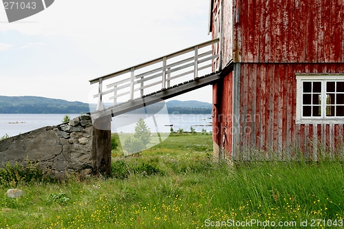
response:
[[[95,105],[93,106],[95,107]],[[196,100],[166,102],[169,113],[211,113],[212,105]],[[0,113],[87,113],[89,105],[85,102],[38,96],[0,96]],[[135,113],[135,112],[134,112]]]

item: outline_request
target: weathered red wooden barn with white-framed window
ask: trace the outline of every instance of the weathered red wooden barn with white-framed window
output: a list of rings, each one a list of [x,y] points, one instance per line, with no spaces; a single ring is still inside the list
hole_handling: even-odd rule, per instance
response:
[[[215,156],[343,153],[343,0],[211,0],[209,32]]]

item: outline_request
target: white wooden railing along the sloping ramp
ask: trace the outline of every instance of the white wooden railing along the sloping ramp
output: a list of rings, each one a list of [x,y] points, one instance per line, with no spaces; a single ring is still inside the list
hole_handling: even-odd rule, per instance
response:
[[[155,91],[169,89],[172,80],[173,85],[178,85],[185,81],[185,77],[188,77],[186,80],[197,79],[200,71],[204,69],[213,72],[213,59],[219,58],[218,54],[213,53],[212,47],[215,43],[219,43],[219,39],[213,39],[147,63],[89,80],[91,85],[98,83],[98,94],[94,95],[94,98],[98,98],[97,110],[103,108],[104,96],[109,96],[109,100],[113,100],[114,105],[117,105],[120,97],[127,96],[128,98],[129,96],[129,100],[133,100],[144,96],[149,89],[155,89]],[[116,81],[110,82],[110,79]],[[109,84],[103,91],[105,80]]]

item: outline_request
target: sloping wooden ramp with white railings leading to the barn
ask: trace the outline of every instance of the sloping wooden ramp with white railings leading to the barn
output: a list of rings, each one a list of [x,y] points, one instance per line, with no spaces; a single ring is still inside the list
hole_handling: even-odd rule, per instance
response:
[[[98,83],[98,100],[92,119],[114,117],[161,100],[173,98],[206,85],[212,85],[220,78],[213,70],[218,61],[219,39],[214,39],[156,58],[119,72],[89,80]],[[215,47],[214,47],[215,45]],[[106,84],[106,90],[103,85]],[[173,85],[173,86],[171,86]],[[122,102],[117,102],[117,101]],[[113,105],[105,107],[105,102]],[[126,102],[124,102],[126,101]]]

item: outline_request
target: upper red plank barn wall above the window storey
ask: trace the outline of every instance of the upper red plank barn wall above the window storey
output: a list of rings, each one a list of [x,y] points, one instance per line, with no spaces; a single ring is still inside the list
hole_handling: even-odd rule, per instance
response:
[[[234,2],[239,2],[239,6],[233,8],[234,23],[237,23],[233,55],[229,56],[233,56],[235,62],[344,62],[343,0]],[[230,12],[225,13],[228,15],[224,19],[229,19]],[[226,23],[225,27],[228,28],[224,36],[231,37],[231,25]]]

